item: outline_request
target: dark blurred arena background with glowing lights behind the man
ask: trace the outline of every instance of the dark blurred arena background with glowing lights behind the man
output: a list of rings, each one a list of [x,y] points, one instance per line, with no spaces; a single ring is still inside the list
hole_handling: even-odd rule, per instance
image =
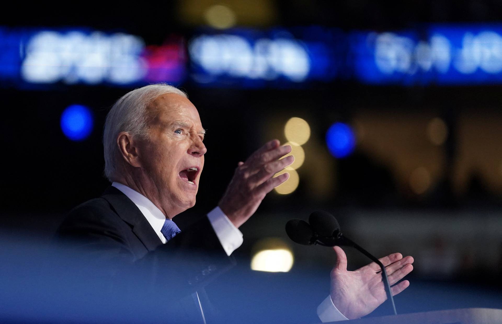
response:
[[[326,210],[374,255],[415,257],[398,311],[502,308],[502,1],[186,0],[0,15],[0,240],[48,244],[71,208],[99,196],[108,109],[167,82],[207,129],[182,229],[266,141],[295,155],[290,179],[240,228],[239,265],[215,294],[241,295],[245,276],[263,309],[277,306],[263,296],[274,291],[315,313],[334,253],[290,242],[284,224]],[[368,262],[346,252],[351,269]],[[380,308],[372,315],[389,313]]]

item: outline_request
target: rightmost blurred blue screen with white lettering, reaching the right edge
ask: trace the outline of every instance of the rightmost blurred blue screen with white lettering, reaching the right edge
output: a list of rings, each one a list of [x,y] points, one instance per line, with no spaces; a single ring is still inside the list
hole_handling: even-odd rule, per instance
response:
[[[502,82],[502,26],[432,25],[422,32],[359,32],[349,36],[349,43],[354,76],[364,83]]]

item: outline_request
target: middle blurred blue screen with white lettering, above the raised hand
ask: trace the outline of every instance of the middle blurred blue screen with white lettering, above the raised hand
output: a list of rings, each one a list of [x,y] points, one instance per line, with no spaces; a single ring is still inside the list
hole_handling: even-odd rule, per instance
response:
[[[320,27],[203,32],[188,44],[192,77],[243,87],[331,81],[341,61],[340,39],[339,32]]]

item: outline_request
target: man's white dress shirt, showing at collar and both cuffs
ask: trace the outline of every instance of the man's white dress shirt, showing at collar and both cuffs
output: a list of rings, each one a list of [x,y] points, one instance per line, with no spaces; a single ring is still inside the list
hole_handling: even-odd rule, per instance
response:
[[[165,244],[167,240],[161,233],[161,229],[166,221],[166,216],[160,211],[160,209],[157,208],[157,206],[155,206],[150,199],[126,185],[122,185],[118,182],[113,182],[111,185],[120,190],[124,195],[133,201],[133,203],[145,216],[148,223],[150,223],[150,226],[152,226],[159,239]],[[225,250],[226,254],[230,256],[233,251],[242,245],[242,242],[244,241],[242,233],[232,224],[232,222],[230,222],[228,217],[226,217],[226,215],[217,206],[207,214],[207,218],[209,219],[209,222],[211,223],[223,250]],[[317,315],[322,322],[348,319],[343,316],[340,311],[338,311],[329,295],[317,307]]]

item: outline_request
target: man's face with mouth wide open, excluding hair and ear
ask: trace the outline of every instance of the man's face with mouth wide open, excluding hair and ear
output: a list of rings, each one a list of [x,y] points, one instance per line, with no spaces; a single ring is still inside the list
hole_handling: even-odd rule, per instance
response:
[[[166,215],[195,205],[206,147],[195,106],[178,94],[159,96],[147,108],[148,138],[139,147],[142,167]],[[169,210],[167,210],[169,209]]]

